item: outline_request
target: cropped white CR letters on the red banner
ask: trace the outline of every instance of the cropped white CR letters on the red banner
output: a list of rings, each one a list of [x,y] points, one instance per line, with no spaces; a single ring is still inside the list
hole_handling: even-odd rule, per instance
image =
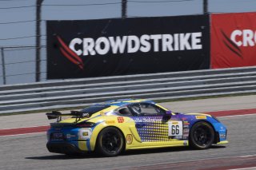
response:
[[[256,30],[234,30],[230,35],[230,40],[238,46],[254,46],[256,45]]]

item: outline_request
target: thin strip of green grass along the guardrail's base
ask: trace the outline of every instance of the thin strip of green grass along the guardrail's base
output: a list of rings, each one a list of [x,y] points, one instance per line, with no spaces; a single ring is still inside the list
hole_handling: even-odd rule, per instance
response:
[[[192,101],[192,100],[200,100],[200,99],[210,99],[210,98],[219,98],[219,97],[239,97],[239,96],[250,96],[250,95],[256,95],[256,93],[240,93],[240,94],[228,94],[228,95],[216,95],[216,96],[210,96],[210,97],[187,97],[182,99],[166,99],[166,100],[154,100],[158,103],[164,103],[164,102],[171,102],[171,101]],[[10,115],[18,115],[18,114],[30,114],[30,113],[47,113],[51,111],[57,111],[57,110],[74,110],[74,109],[83,109],[84,107],[72,107],[72,108],[62,108],[62,109],[45,109],[45,110],[35,110],[35,111],[27,111],[22,113],[1,113],[1,116],[10,116]]]

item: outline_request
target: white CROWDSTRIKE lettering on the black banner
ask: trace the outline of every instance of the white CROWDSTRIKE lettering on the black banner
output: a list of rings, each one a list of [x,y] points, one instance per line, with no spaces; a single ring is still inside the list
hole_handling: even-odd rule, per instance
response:
[[[234,35],[234,39],[235,39]],[[251,35],[246,34],[250,39]],[[247,40],[246,40],[247,41]],[[251,42],[249,42],[251,44]],[[80,45],[80,49],[78,48]],[[162,45],[162,46],[161,46]],[[160,51],[183,51],[202,49],[202,33],[186,34],[144,34],[140,38],[136,35],[93,38],[74,38],[70,42],[70,49],[78,55],[105,55],[106,53],[142,53]],[[81,47],[82,46],[82,47]]]

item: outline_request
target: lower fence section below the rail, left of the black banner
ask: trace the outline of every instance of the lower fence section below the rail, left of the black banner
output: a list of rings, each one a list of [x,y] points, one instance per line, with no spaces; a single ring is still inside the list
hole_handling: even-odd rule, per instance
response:
[[[1,47],[0,85],[30,83],[36,77],[36,47]],[[46,81],[46,46],[41,47],[41,80]]]

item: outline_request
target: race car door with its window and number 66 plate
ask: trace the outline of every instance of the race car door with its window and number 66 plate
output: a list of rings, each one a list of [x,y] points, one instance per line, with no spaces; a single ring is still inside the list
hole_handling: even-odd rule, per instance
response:
[[[172,140],[174,136],[182,136],[180,123],[174,125],[174,122],[166,120],[166,111],[157,105],[136,103],[129,105],[128,108],[134,115],[131,118],[135,121],[142,142],[164,142]],[[170,130],[172,128],[174,130]]]

